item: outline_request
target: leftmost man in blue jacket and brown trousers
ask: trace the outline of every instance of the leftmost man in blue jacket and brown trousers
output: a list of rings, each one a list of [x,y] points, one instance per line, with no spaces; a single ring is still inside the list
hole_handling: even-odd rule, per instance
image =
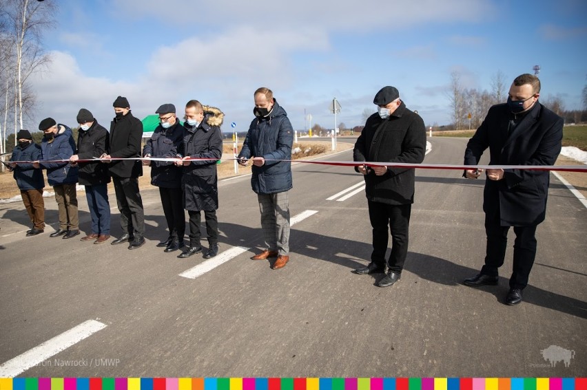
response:
[[[41,160],[41,147],[32,142],[30,131],[21,130],[17,133],[19,144],[12,151],[10,161],[38,161]],[[43,171],[34,168],[32,162],[10,162],[8,169],[14,171],[14,179],[21,190],[23,204],[32,223],[32,229],[27,230],[27,237],[35,236],[45,231],[45,202],[43,188],[45,179]]]

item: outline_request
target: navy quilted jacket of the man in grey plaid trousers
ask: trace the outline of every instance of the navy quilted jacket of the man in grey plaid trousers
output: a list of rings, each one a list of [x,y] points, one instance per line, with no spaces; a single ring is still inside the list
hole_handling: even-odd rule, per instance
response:
[[[294,144],[294,129],[287,113],[277,100],[267,118],[255,118],[251,122],[243,149],[238,158],[262,157],[265,164],[253,166],[251,186],[261,194],[282,193],[293,187],[291,180],[291,145]]]

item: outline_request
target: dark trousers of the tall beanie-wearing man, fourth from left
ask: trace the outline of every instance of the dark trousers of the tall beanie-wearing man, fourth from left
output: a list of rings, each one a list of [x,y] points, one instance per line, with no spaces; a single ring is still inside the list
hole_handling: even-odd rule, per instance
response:
[[[121,228],[123,234],[143,237],[145,235],[145,214],[143,199],[138,192],[136,177],[112,177],[116,204],[121,212]]]

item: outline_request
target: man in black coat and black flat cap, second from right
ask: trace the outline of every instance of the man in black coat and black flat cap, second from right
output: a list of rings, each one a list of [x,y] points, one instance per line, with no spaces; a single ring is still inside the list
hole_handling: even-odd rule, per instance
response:
[[[395,87],[383,87],[373,103],[378,112],[365,123],[354,149],[354,160],[420,164],[426,151],[426,127],[417,113],[407,109]],[[387,287],[400,280],[408,253],[411,206],[414,202],[414,169],[391,166],[358,166],[364,175],[369,219],[373,227],[371,263],[356,274],[385,271],[385,252],[391,230],[387,275],[376,285]]]

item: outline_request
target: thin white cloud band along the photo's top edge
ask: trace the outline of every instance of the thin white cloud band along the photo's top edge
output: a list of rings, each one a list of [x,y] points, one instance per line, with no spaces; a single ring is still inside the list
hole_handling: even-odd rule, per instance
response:
[[[397,30],[421,23],[475,22],[495,12],[489,0],[216,0],[214,5],[196,6],[189,0],[112,0],[112,7],[130,17],[159,16],[162,9],[181,10],[194,16],[194,23],[216,25],[250,21],[259,31],[271,33],[276,26],[319,26],[325,30]]]

